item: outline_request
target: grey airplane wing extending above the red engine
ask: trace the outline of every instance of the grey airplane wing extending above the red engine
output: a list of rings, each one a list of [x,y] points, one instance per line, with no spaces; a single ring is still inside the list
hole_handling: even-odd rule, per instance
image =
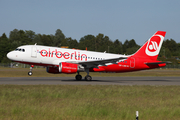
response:
[[[127,57],[118,57],[118,58],[112,58],[112,59],[105,59],[105,60],[96,60],[96,61],[80,61],[80,62],[71,62],[71,63],[76,63],[80,64],[83,67],[86,68],[91,68],[94,67],[96,68],[98,65],[106,66],[106,63],[112,63],[112,64],[117,64],[116,62],[119,60],[127,59]]]

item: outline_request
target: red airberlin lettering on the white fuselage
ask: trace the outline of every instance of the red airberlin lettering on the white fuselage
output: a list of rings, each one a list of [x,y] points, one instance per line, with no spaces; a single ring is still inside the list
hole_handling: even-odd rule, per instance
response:
[[[50,48],[49,50],[41,50],[40,51],[41,56],[43,57],[57,57],[57,58],[62,58],[64,57],[65,59],[75,59],[75,60],[85,60],[87,61],[87,55],[86,54],[80,54],[80,52],[74,51],[73,53],[69,53],[69,52],[61,52],[58,51],[57,49],[51,51]]]

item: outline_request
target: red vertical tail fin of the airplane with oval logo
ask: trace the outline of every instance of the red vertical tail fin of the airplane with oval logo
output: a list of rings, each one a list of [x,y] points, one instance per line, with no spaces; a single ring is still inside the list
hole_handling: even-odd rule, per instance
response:
[[[157,31],[134,55],[133,57],[149,58],[157,60],[166,32]]]

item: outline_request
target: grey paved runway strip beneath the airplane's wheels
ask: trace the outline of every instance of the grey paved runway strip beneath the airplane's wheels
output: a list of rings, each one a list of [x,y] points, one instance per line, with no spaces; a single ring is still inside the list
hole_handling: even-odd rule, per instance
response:
[[[0,84],[13,85],[180,85],[180,77],[93,77],[76,81],[74,77],[1,77]]]

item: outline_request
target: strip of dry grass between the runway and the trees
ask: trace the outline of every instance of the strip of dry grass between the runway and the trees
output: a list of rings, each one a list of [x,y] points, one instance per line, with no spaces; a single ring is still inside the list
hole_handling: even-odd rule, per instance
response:
[[[28,77],[28,68],[0,68],[0,77]],[[85,72],[80,73],[85,76]],[[50,74],[45,68],[33,69],[33,77],[74,77],[76,74]],[[153,69],[126,73],[90,72],[93,76],[180,76],[180,69]]]

